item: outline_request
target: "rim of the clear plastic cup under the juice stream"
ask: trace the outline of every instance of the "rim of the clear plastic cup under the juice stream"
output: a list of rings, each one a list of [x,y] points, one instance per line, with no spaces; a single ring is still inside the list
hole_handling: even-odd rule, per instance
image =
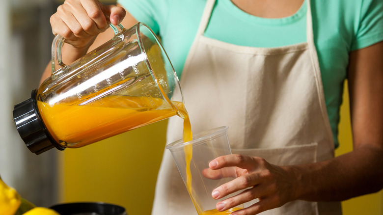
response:
[[[207,140],[211,140],[215,137],[225,134],[227,129],[229,129],[228,126],[221,126],[218,128],[203,131],[193,135],[193,139],[191,141],[184,142],[183,139],[179,139],[175,142],[167,144],[165,148],[169,150],[175,150],[175,149],[183,148],[184,146],[190,145],[190,144],[192,144],[194,147],[206,142]]]

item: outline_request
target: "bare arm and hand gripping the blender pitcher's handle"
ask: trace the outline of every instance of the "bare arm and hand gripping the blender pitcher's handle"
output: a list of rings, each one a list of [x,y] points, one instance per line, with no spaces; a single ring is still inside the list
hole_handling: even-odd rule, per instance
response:
[[[65,0],[51,17],[52,32],[65,38],[62,48],[62,61],[70,64],[78,58],[102,45],[113,37],[105,16],[110,16],[113,25],[121,23],[129,28],[137,23],[123,7],[103,5],[98,0]],[[41,81],[52,73],[51,63],[47,65]]]

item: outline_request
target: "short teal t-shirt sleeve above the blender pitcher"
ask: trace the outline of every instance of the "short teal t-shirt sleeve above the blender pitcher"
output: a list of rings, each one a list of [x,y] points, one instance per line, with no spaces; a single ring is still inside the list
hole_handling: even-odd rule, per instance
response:
[[[160,9],[152,0],[117,0],[125,10],[130,13],[138,22],[148,25],[154,33],[159,34],[160,27],[158,16]]]

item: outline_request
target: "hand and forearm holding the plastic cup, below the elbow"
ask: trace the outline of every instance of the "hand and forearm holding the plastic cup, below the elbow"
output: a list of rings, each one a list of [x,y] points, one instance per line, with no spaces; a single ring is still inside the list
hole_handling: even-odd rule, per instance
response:
[[[383,146],[356,146],[353,152],[328,161],[291,166],[240,154],[218,157],[209,163],[210,169],[236,166],[238,177],[213,190],[213,198],[222,199],[217,209],[224,211],[258,199],[240,213],[255,215],[297,199],[342,201],[382,189]],[[240,194],[224,198],[240,190]]]

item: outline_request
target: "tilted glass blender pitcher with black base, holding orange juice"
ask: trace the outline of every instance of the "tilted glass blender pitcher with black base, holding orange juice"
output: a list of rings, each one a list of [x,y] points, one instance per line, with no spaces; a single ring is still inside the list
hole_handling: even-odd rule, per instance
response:
[[[55,37],[52,76],[13,110],[33,153],[82,147],[179,114],[180,84],[157,36],[143,23],[110,26],[111,40],[70,65],[61,61],[64,38]]]

